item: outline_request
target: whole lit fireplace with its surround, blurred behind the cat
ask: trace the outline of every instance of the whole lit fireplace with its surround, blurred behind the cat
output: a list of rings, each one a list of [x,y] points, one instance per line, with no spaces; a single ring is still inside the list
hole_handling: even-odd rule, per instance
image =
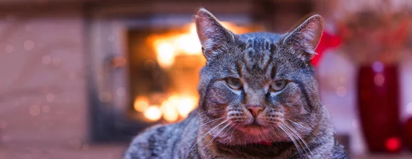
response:
[[[263,22],[274,17],[262,2],[87,5],[91,140],[130,141],[146,127],[185,119],[196,108],[205,64],[192,14],[203,6],[234,33],[262,31]]]

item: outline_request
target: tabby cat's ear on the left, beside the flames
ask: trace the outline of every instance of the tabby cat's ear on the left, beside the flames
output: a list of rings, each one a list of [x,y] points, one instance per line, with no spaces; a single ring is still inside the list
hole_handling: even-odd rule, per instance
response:
[[[219,23],[213,14],[201,8],[194,17],[196,32],[201,41],[203,55],[211,60],[229,49],[234,35]]]

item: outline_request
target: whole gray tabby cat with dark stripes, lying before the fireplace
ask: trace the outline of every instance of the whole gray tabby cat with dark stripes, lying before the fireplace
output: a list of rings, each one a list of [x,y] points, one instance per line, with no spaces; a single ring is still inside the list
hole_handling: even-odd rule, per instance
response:
[[[181,123],[139,134],[124,159],[349,158],[310,64],[321,16],[287,34],[233,34],[205,9],[195,21],[207,58],[198,108]]]

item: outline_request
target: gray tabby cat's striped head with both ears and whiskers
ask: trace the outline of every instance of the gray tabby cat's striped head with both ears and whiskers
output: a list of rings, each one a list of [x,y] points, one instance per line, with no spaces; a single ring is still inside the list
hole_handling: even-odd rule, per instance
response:
[[[233,34],[205,9],[195,21],[207,58],[198,84],[205,130],[234,145],[310,133],[322,107],[310,64],[323,30],[321,16],[286,34]]]

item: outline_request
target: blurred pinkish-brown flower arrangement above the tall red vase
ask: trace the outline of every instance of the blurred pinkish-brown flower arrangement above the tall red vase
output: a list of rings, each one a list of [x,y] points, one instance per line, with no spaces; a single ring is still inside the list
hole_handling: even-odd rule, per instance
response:
[[[336,18],[341,52],[357,64],[397,63],[411,35],[409,1],[344,1]],[[353,8],[351,8],[353,7]],[[351,8],[351,10],[347,10]],[[346,10],[345,10],[346,9]]]

